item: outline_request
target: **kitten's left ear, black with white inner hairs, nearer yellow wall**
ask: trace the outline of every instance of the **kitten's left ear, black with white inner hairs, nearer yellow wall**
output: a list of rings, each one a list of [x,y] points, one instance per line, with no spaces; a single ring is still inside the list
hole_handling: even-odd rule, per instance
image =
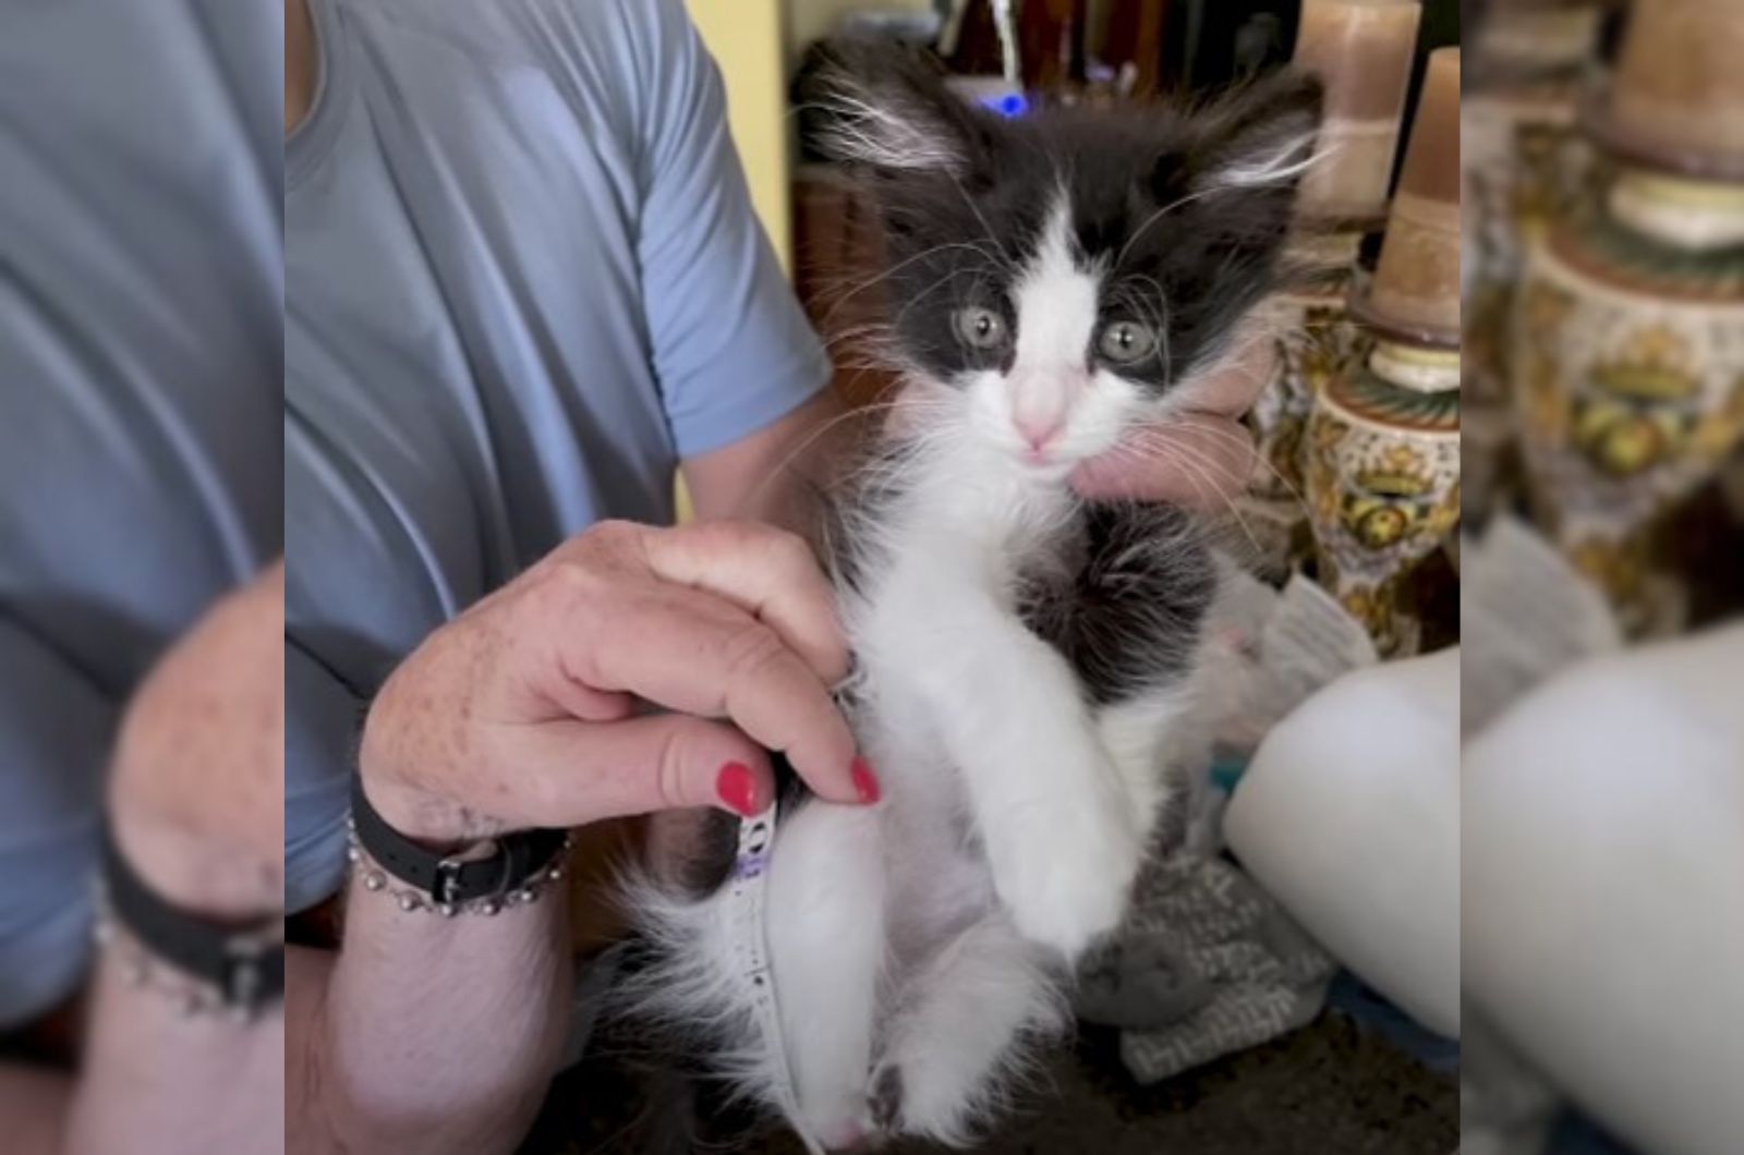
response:
[[[813,47],[795,96],[806,143],[832,161],[877,173],[985,169],[991,115],[945,87],[930,54],[888,40],[844,37]]]

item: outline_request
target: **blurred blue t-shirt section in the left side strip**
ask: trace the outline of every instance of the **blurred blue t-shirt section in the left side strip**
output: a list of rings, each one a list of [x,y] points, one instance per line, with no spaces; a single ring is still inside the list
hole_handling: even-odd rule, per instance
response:
[[[87,967],[127,698],[283,518],[283,17],[23,7],[0,17],[0,1029]]]

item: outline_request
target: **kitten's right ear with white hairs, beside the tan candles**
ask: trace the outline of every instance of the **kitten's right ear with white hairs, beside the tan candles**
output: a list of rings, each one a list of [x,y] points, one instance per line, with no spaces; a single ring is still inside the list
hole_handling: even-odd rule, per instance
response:
[[[1322,96],[1315,77],[1284,68],[1196,113],[1184,157],[1191,187],[1294,192],[1318,161]],[[1179,188],[1181,161],[1158,164],[1158,195],[1165,183]]]

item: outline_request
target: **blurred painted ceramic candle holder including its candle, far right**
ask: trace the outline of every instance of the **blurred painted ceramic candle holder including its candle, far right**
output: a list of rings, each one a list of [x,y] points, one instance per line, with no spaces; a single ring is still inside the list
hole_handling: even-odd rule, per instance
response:
[[[1636,5],[1582,126],[1606,173],[1533,244],[1516,304],[1535,513],[1638,637],[1683,619],[1659,527],[1744,438],[1741,56],[1737,0]]]

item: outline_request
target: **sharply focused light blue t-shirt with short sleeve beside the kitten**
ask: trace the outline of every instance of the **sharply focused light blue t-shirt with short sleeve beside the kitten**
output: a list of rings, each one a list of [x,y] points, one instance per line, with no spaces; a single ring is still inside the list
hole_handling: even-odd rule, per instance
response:
[[[314,0],[286,141],[286,886],[337,890],[370,696],[828,377],[680,0]]]

